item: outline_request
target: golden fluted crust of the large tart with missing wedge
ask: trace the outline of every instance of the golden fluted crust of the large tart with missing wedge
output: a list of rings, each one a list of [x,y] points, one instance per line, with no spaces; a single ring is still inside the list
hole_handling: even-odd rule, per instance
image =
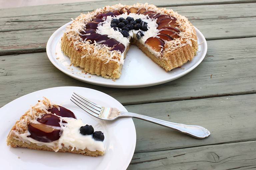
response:
[[[195,30],[194,30],[194,34]],[[197,40],[197,36],[193,36]],[[189,44],[184,45],[180,48],[173,50],[172,52],[164,55],[165,59],[156,57],[152,54],[144,44],[139,41],[132,39],[131,44],[138,46],[149,58],[151,58],[156,64],[165,69],[165,71],[170,71],[174,68],[180,67],[188,61],[191,61],[196,55],[198,44],[197,41],[192,41],[192,46]],[[128,51],[129,46],[124,51],[124,57]],[[68,56],[74,64],[74,66],[79,66],[85,70],[85,72],[90,74],[101,75],[105,78],[117,79],[121,75],[122,64],[118,64],[115,61],[109,61],[105,63],[106,60],[101,60],[100,58],[87,55],[81,58],[84,54],[76,50],[71,42],[68,40],[66,33],[61,40],[61,50]]]

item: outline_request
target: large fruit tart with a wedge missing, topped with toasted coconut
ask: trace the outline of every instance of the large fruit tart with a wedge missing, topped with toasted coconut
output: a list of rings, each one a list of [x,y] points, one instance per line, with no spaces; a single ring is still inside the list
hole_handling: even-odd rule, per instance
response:
[[[192,60],[198,49],[195,28],[186,17],[148,3],[81,14],[61,39],[63,53],[75,66],[112,79],[120,77],[130,44],[166,71]]]

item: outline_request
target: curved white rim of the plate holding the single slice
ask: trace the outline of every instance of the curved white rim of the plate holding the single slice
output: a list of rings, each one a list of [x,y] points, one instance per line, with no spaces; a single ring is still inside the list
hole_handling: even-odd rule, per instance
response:
[[[3,109],[5,109],[6,107],[8,107],[8,105],[11,105],[14,101],[16,101],[16,100],[19,100],[20,98],[23,98],[24,96],[28,96],[28,95],[31,95],[31,94],[33,94],[33,93],[37,93],[37,92],[39,92],[39,91],[44,91],[44,90],[49,90],[49,89],[56,89],[56,88],[82,88],[82,89],[89,89],[89,90],[93,90],[93,91],[97,91],[97,92],[100,92],[100,93],[103,93],[103,92],[101,92],[101,91],[99,91],[99,90],[95,90],[95,89],[91,89],[91,88],[87,88],[87,87],[79,87],[79,86],[60,86],[60,87],[51,87],[51,88],[46,88],[46,89],[41,89],[41,90],[37,90],[37,91],[34,91],[34,92],[31,92],[31,93],[28,93],[28,94],[26,94],[26,95],[23,95],[23,96],[21,96],[21,97],[19,97],[19,98],[17,98],[17,99],[14,99],[14,100],[12,100],[11,102],[9,102],[9,103],[7,103],[7,104],[5,104],[4,106],[2,106],[1,108],[0,108],[0,112],[1,112],[1,110],[3,110]],[[107,95],[107,96],[109,96],[110,98],[112,98],[112,99],[114,99],[114,100],[116,100],[115,98],[113,98],[112,96],[110,96],[110,95],[108,95],[108,94],[106,94],[106,93],[103,93],[104,95]],[[118,103],[120,103],[118,100],[116,100]],[[121,104],[121,103],[120,103]],[[122,105],[122,104],[121,104]],[[122,105],[123,106],[123,105]],[[123,106],[124,107],[124,106]],[[124,111],[127,111],[127,109],[124,107]],[[135,128],[135,125],[134,125],[134,122],[133,122],[133,119],[132,118],[130,118],[130,117],[127,117],[126,118],[127,120],[129,120],[132,124],[131,124],[131,130],[133,130],[134,131],[134,137],[133,137],[133,139],[134,139],[134,141],[133,141],[133,143],[134,143],[134,145],[133,145],[133,147],[132,147],[132,150],[133,150],[133,154],[131,154],[131,155],[129,155],[127,158],[129,158],[129,160],[126,162],[126,164],[123,164],[123,168],[124,168],[124,170],[126,170],[127,168],[128,168],[128,166],[129,166],[129,164],[130,164],[130,162],[131,162],[131,160],[132,160],[132,157],[133,157],[133,155],[134,155],[134,152],[135,152],[135,147],[136,147],[136,142],[137,142],[137,134],[136,134],[136,128]],[[121,120],[121,119],[120,119]],[[103,155],[104,156],[104,155]]]

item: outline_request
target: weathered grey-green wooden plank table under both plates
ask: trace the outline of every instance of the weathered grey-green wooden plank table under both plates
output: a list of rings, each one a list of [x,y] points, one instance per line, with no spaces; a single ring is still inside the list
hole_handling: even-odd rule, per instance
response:
[[[128,111],[211,131],[201,140],[134,119],[137,144],[130,170],[256,168],[256,1],[139,1],[185,15],[207,40],[203,62],[169,83],[106,88],[77,81],[52,65],[45,47],[57,28],[82,12],[119,2],[137,1],[0,9],[0,107],[45,88],[88,87],[113,96]]]

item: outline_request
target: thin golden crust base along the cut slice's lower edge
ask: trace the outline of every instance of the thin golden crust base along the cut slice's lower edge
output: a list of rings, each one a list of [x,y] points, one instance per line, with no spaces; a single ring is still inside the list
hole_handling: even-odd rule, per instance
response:
[[[45,151],[54,151],[52,148],[49,148],[47,146],[38,146],[36,143],[26,143],[26,142],[22,142],[20,140],[14,139],[11,136],[8,136],[7,138],[7,145],[10,145],[11,147],[24,147],[24,148],[28,148],[28,149],[34,149],[34,150],[45,150]],[[60,150],[58,150],[58,152],[68,152],[68,153],[75,153],[75,154],[82,154],[82,155],[88,155],[88,156],[101,156],[104,153],[101,151],[90,151],[88,149],[74,149],[73,151],[71,151],[72,148],[66,148],[63,147]]]

